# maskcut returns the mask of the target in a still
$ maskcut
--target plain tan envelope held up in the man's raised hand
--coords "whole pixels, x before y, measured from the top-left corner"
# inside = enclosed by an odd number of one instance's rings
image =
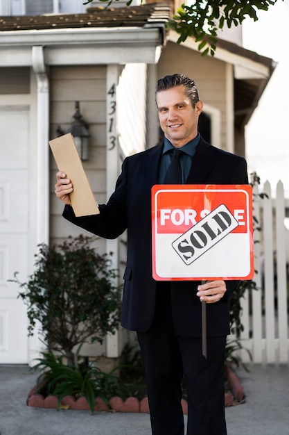
[[[98,205],[71,133],[49,140],[49,145],[58,170],[65,172],[73,183],[73,192],[69,197],[75,215],[78,217],[99,214]]]

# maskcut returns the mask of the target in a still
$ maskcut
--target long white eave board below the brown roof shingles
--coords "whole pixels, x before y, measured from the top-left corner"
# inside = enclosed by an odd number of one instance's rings
[[[0,66],[31,65],[30,51],[35,45],[45,47],[47,65],[90,64],[96,58],[103,64],[157,63],[164,26],[3,31]]]

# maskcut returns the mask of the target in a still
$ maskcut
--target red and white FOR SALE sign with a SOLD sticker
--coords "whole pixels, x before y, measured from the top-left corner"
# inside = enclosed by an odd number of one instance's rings
[[[154,279],[252,279],[252,188],[152,187]]]

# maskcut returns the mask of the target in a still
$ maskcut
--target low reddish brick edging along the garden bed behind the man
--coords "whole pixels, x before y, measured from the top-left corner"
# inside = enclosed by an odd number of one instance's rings
[[[230,368],[225,368],[225,375],[231,388],[231,393],[225,393],[225,406],[229,407],[234,404],[235,401],[241,402],[244,399],[243,386],[236,373]],[[44,397],[42,394],[35,394],[36,386],[34,386],[28,393],[26,404],[28,407],[35,408],[47,408],[56,409],[58,405],[58,397],[56,395],[50,395]],[[143,397],[142,400],[138,400],[137,397],[128,397],[125,401],[121,397],[112,397],[110,399],[110,407],[100,397],[96,397],[96,406],[94,411],[114,411],[114,412],[144,412],[150,413],[148,407],[148,397]],[[182,408],[184,414],[188,413],[188,404],[186,400],[182,400]],[[85,397],[79,397],[75,399],[73,396],[65,396],[62,400],[61,409],[77,409],[78,411],[90,411],[89,404]]]

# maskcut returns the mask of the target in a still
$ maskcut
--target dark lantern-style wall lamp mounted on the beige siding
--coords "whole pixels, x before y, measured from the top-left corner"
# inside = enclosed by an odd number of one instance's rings
[[[89,156],[88,144],[89,144],[89,136],[90,136],[88,131],[88,124],[87,122],[85,122],[85,120],[83,120],[82,115],[80,114],[79,101],[76,101],[75,109],[76,111],[73,115],[74,121],[69,127],[69,129],[67,129],[66,133],[72,134],[81,160],[87,161]],[[65,132],[61,129],[60,126],[58,126],[58,129],[56,131],[61,136],[65,134]]]

